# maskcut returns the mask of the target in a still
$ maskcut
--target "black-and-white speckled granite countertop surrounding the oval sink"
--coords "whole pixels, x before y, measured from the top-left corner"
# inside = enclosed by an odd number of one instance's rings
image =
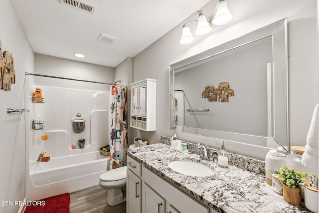
[[[141,162],[166,181],[205,206],[220,213],[308,213],[304,206],[293,206],[272,191],[265,176],[229,166],[214,167],[198,155],[180,153],[158,143],[126,149],[127,155]],[[173,171],[167,165],[174,160],[191,160],[215,169],[208,177],[193,177]]]

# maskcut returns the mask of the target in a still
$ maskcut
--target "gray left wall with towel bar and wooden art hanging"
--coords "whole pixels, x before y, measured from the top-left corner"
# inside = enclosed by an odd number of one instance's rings
[[[33,71],[33,51],[9,0],[0,1],[2,49],[13,54],[15,84],[0,90],[0,201],[23,201],[25,195],[24,114],[7,114],[6,108],[24,108],[24,73]],[[14,204],[14,203],[13,203]],[[19,206],[0,206],[14,213]]]

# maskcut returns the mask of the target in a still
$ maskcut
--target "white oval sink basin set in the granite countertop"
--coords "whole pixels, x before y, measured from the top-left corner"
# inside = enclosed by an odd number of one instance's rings
[[[206,177],[215,174],[211,168],[193,161],[173,161],[168,164],[168,167],[189,176]]]

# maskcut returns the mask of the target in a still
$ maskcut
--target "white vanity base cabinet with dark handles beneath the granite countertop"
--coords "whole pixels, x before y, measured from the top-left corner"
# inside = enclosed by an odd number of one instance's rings
[[[127,213],[217,213],[127,155]]]

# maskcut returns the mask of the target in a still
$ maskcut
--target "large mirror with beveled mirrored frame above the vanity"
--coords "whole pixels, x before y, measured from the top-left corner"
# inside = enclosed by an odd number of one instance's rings
[[[169,70],[171,130],[289,151],[287,18]]]

